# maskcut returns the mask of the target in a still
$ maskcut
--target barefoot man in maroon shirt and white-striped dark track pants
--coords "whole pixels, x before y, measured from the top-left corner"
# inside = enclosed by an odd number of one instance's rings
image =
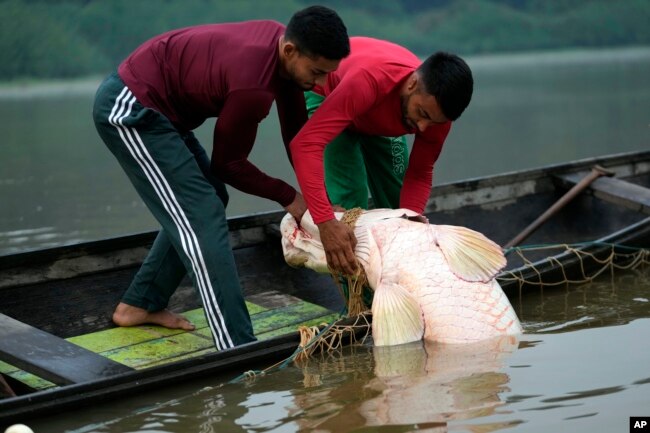
[[[173,30],[137,48],[99,87],[93,118],[162,229],[117,306],[121,326],[194,326],[166,309],[189,274],[218,349],[255,340],[228,241],[224,183],[300,218],[302,195],[251,162],[275,101],[287,147],[307,120],[304,90],[350,52],[336,12],[313,6],[275,21]],[[217,117],[212,158],[192,130]]]

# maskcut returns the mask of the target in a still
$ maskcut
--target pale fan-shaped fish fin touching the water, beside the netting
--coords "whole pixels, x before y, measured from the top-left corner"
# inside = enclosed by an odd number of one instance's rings
[[[424,335],[422,309],[398,284],[380,283],[372,301],[372,339],[375,346],[418,341]]]

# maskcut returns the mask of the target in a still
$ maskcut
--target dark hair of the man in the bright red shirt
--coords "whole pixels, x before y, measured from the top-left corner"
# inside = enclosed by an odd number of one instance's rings
[[[467,63],[455,54],[437,52],[418,68],[424,90],[436,97],[442,113],[456,120],[472,99],[474,79]]]

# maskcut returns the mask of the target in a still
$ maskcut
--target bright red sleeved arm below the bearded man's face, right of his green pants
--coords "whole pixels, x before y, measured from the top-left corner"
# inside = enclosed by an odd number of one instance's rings
[[[400,207],[423,213],[431,194],[433,166],[449,134],[451,122],[429,127],[415,136],[400,193]]]

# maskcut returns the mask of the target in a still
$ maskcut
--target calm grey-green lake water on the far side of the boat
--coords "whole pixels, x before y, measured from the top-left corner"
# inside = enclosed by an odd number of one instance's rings
[[[650,147],[650,47],[468,58],[434,183]],[[95,131],[100,78],[0,86],[0,255],[157,228]],[[214,121],[198,136],[211,149]],[[251,159],[296,184],[274,111]],[[229,216],[279,209],[231,190]]]

